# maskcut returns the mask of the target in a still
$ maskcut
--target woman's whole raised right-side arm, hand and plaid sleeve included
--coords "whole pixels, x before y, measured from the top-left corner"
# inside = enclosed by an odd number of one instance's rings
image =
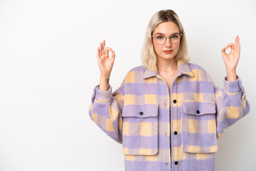
[[[230,53],[225,50],[231,48]],[[236,66],[240,58],[240,38],[235,37],[235,45],[228,44],[221,49],[225,63],[227,76],[224,78],[224,88],[215,87],[215,99],[217,105],[217,138],[223,134],[225,128],[236,123],[250,111],[250,105],[246,100],[245,89],[239,76],[236,75]]]

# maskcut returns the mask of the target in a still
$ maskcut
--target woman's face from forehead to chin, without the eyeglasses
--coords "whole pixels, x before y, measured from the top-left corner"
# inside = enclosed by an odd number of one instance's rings
[[[176,24],[174,24],[174,22],[172,21],[163,22],[155,28],[153,32],[153,36],[159,35],[159,33],[163,34],[167,38],[164,44],[156,43],[155,38],[153,38],[153,45],[154,45],[154,50],[156,51],[157,59],[159,58],[162,58],[165,60],[174,59],[174,57],[178,53],[180,42],[171,43],[171,40],[169,37],[174,33],[179,33],[178,26],[176,26]]]

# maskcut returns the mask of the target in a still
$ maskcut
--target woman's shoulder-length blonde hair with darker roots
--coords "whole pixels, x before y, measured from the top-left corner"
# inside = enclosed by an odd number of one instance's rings
[[[182,33],[180,47],[178,49],[178,53],[174,57],[175,61],[183,60],[185,62],[189,61],[188,58],[188,48],[186,43],[186,33],[183,30],[183,26],[181,25],[181,21],[178,19],[177,14],[171,9],[161,10],[154,14],[150,21],[149,25],[146,28],[146,35],[144,38],[144,43],[142,46],[142,65],[144,68],[152,70],[154,66],[156,66],[156,53],[154,51],[154,45],[152,42],[152,34],[154,29],[161,23],[166,21],[172,21],[174,24],[178,26],[179,32]]]

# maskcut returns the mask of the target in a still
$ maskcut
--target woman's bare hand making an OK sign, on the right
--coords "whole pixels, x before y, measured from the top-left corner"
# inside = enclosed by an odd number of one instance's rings
[[[227,71],[235,71],[236,66],[238,65],[238,60],[240,57],[240,38],[239,36],[235,37],[235,46],[234,43],[229,43],[223,49],[221,49],[221,54],[223,56],[223,61]],[[225,50],[231,48],[230,53],[225,53]]]

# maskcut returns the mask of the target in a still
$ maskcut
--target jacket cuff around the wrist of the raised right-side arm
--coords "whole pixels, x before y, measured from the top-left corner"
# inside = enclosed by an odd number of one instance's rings
[[[237,75],[237,79],[235,81],[228,81],[227,76],[223,79],[224,90],[227,93],[238,93],[239,91],[244,91],[242,87],[241,78]]]

